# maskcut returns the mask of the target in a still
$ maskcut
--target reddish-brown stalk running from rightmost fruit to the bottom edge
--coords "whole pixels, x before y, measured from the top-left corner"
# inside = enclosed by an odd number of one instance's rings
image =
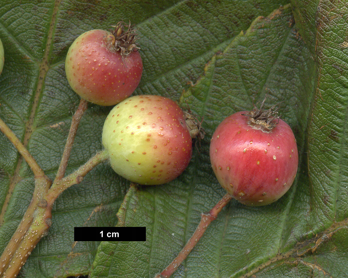
[[[193,233],[192,237],[189,239],[187,244],[182,248],[176,258],[159,274],[155,276],[155,278],[168,278],[177,267],[187,258],[188,254],[190,254],[193,247],[196,246],[199,239],[203,236],[205,230],[209,226],[209,224],[216,219],[217,215],[220,213],[222,208],[228,204],[228,202],[232,199],[230,194],[226,194],[222,197],[222,199],[209,211],[208,214],[201,214],[200,222],[197,226],[196,231]]]

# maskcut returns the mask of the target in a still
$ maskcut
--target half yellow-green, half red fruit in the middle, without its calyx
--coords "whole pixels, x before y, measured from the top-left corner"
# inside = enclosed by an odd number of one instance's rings
[[[158,185],[179,176],[192,155],[181,108],[162,96],[132,96],[115,106],[102,134],[112,169],[139,184]]]

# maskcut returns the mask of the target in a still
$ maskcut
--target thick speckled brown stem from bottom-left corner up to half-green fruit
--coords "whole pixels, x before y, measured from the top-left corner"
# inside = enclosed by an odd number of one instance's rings
[[[80,183],[90,170],[108,159],[108,157],[109,155],[105,150],[98,152],[78,170],[60,182],[53,184],[50,188],[50,180],[49,182],[45,178],[35,180],[35,182],[41,180],[41,183],[45,183],[45,185],[35,183],[32,202],[0,257],[1,278],[15,277],[13,276],[14,273],[19,272],[29,254],[35,248],[35,245],[48,231],[52,204],[58,195],[71,185]],[[44,188],[45,190],[41,191],[39,188]]]

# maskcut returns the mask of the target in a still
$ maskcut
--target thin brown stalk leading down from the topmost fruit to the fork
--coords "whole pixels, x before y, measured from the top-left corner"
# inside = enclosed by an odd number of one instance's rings
[[[72,116],[68,138],[66,139],[62,160],[59,165],[54,184],[61,180],[65,175],[65,170],[68,165],[72,144],[74,142],[76,132],[81,121],[81,117],[87,109],[87,105],[87,100],[81,98],[79,107],[77,108],[75,114]]]

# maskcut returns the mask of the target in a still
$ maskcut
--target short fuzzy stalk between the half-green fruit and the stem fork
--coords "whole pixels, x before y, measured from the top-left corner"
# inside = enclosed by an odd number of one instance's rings
[[[79,169],[71,173],[69,176],[65,177],[54,183],[46,194],[45,200],[48,203],[48,206],[52,206],[53,202],[57,199],[57,197],[68,187],[79,184],[82,182],[83,178],[87,175],[87,173],[96,167],[101,162],[107,160],[109,158],[108,152],[103,150],[101,152],[96,153],[95,156],[90,158],[84,165],[82,165]]]

